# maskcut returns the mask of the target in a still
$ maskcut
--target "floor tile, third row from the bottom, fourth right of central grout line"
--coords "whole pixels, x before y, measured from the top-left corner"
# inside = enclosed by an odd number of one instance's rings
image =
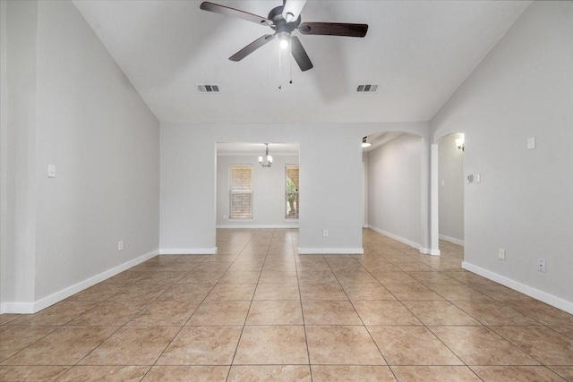
[[[486,326],[539,325],[534,319],[498,301],[455,301],[454,304]]]

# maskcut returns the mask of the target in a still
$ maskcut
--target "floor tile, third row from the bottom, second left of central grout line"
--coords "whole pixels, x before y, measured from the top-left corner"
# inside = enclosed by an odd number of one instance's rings
[[[203,301],[186,325],[195,327],[243,326],[250,305],[250,301]]]

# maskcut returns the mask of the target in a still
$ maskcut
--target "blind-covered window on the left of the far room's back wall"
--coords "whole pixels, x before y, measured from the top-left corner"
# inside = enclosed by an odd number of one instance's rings
[[[229,218],[252,219],[252,166],[229,167]]]

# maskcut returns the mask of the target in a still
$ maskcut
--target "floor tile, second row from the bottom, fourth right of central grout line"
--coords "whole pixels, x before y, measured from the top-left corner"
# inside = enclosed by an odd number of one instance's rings
[[[545,365],[573,366],[573,339],[549,327],[492,327],[492,330]]]

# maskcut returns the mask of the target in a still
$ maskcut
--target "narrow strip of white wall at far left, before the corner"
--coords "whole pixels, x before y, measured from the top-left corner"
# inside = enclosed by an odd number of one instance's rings
[[[34,299],[38,4],[3,2],[2,10],[4,237],[0,311],[4,301],[30,302]]]

